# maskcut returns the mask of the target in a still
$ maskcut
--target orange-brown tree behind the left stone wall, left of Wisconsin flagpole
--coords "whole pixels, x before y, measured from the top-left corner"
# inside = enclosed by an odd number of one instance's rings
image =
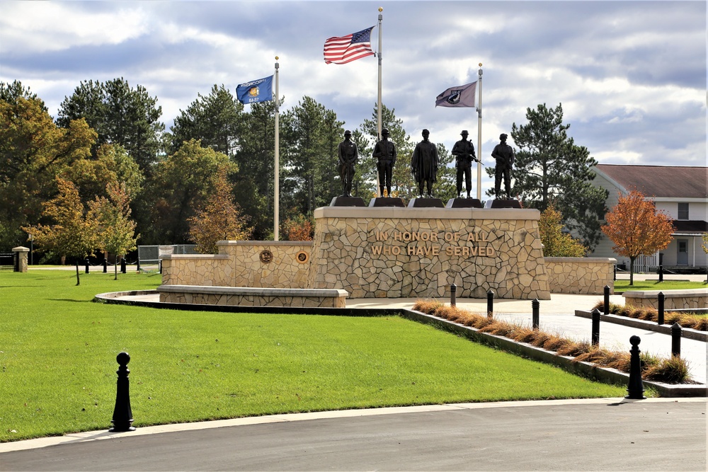
[[[205,206],[189,218],[189,234],[198,252],[216,254],[217,241],[243,241],[251,236],[253,229],[246,226],[246,219],[233,201],[227,169],[220,168]]]

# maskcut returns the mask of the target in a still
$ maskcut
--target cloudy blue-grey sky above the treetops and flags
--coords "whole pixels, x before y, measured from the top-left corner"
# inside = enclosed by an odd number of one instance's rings
[[[0,81],[56,116],[80,81],[124,77],[158,98],[169,129],[213,84],[235,95],[273,74],[277,55],[284,108],[310,96],[355,129],[377,100],[377,59],[325,64],[323,45],[375,25],[379,6],[383,103],[413,139],[428,128],[451,149],[469,129],[476,146],[475,110],[435,96],[481,62],[487,162],[527,108],[562,103],[600,163],[707,165],[705,1],[0,0]]]

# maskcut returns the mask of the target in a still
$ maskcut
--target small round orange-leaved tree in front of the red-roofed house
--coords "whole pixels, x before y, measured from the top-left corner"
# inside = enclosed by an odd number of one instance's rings
[[[629,284],[634,284],[634,260],[666,249],[674,231],[671,217],[656,210],[639,190],[619,194],[617,205],[605,215],[603,233],[615,244],[612,251],[629,258]]]

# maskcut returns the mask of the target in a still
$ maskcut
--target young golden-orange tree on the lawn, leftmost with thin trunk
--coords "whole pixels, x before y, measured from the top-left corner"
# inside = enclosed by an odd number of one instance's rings
[[[43,215],[54,224],[23,226],[33,234],[35,245],[66,255],[76,261],[76,285],[79,279],[79,260],[93,255],[99,245],[98,221],[86,214],[79,192],[69,180],[57,178],[59,195],[44,203]]]

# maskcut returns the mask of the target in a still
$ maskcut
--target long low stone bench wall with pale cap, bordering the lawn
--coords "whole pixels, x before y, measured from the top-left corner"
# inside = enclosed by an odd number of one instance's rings
[[[160,285],[160,301],[165,303],[224,306],[302,306],[345,308],[346,290],[270,289],[251,287],[200,287]]]

